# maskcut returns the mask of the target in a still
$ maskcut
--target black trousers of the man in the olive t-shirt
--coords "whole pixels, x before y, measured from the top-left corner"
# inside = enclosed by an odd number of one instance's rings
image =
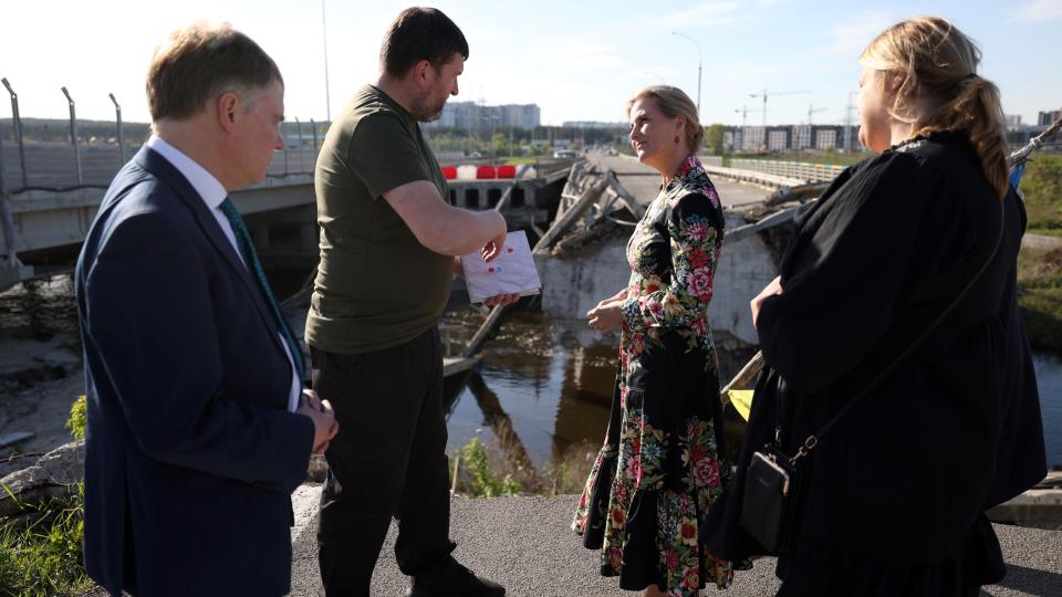
[[[372,353],[310,354],[313,387],[340,423],[325,452],[317,528],[325,594],[369,595],[392,517],[398,568],[418,582],[445,574],[456,545],[438,328]]]

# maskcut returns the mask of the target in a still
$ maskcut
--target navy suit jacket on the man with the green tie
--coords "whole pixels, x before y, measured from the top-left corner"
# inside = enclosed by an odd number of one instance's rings
[[[75,273],[85,347],[85,565],[112,594],[282,595],[313,423],[247,268],[145,147]]]

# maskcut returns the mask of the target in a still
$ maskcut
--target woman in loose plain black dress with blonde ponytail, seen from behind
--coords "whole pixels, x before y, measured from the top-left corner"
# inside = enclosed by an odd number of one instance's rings
[[[985,510],[1045,473],[1016,304],[1025,213],[979,59],[938,18],[904,21],[870,44],[860,140],[881,155],[798,216],[781,276],[752,301],[768,368],[742,468],[711,512],[716,553],[761,551],[736,521],[743,467],[775,423],[793,454],[887,370],[803,460],[802,523],[779,559],[781,596],[977,595],[1004,574]]]

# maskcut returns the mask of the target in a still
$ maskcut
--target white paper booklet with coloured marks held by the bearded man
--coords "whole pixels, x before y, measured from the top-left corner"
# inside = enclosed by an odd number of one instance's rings
[[[479,251],[461,256],[465,268],[465,285],[473,303],[499,294],[538,294],[542,289],[539,270],[531,256],[531,247],[523,230],[510,232],[501,253],[490,263],[483,262]]]

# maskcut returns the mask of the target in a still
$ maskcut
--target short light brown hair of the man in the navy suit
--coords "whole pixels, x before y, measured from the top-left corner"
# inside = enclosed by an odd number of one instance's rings
[[[155,49],[147,69],[152,119],[195,116],[228,91],[252,94],[273,81],[280,69],[253,40],[229,23],[205,21],[174,31]]]

